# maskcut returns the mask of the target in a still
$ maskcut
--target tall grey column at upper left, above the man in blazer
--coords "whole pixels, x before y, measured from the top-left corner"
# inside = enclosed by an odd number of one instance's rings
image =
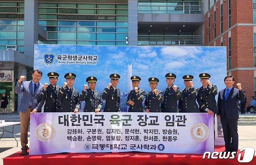
[[[38,0],[25,0],[24,54],[34,57],[34,44],[38,41]]]

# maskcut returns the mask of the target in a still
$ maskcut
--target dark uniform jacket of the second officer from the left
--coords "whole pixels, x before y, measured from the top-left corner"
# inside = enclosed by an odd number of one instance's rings
[[[57,102],[60,105],[59,112],[74,112],[75,108],[79,109],[81,105],[81,101],[79,101],[79,91],[73,87],[71,93],[68,86],[66,86],[65,89],[61,87]]]

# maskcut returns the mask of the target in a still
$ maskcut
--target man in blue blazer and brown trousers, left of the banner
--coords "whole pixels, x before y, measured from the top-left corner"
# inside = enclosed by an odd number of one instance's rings
[[[21,155],[26,155],[28,149],[28,127],[30,114],[41,112],[44,100],[40,100],[39,95],[42,92],[44,84],[39,81],[42,77],[40,70],[34,70],[31,81],[23,81],[26,77],[21,76],[15,87],[15,93],[23,93],[18,112],[21,120]]]

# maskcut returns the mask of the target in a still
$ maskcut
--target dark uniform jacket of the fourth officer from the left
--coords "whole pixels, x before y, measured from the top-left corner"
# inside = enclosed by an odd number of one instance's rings
[[[114,90],[113,86],[109,89],[105,88],[102,99],[106,100],[104,112],[118,112],[120,111],[120,89]]]

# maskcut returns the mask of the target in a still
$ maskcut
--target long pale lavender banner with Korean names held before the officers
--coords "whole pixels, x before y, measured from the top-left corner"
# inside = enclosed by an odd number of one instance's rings
[[[30,155],[142,151],[214,151],[208,113],[34,113]]]

